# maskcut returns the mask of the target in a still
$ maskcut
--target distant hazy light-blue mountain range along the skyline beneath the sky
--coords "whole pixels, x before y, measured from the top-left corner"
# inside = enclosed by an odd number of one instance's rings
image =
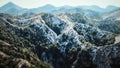
[[[7,4],[5,4],[4,6],[0,7],[0,12],[4,12],[4,13],[9,13],[9,14],[14,14],[14,15],[21,15],[23,13],[40,13],[40,12],[46,12],[46,13],[65,13],[65,12],[69,12],[69,11],[73,11],[73,12],[81,12],[81,10],[87,11],[87,10],[91,10],[94,12],[100,12],[100,13],[105,13],[105,12],[109,12],[115,9],[118,9],[119,7],[116,6],[108,6],[106,8],[100,8],[98,6],[76,6],[76,7],[72,7],[72,6],[61,6],[61,7],[55,7],[53,5],[47,4],[45,6],[42,7],[38,7],[38,8],[32,8],[32,9],[26,9],[26,8],[22,8],[17,6],[16,4],[9,2]],[[71,11],[71,12],[72,12]]]

